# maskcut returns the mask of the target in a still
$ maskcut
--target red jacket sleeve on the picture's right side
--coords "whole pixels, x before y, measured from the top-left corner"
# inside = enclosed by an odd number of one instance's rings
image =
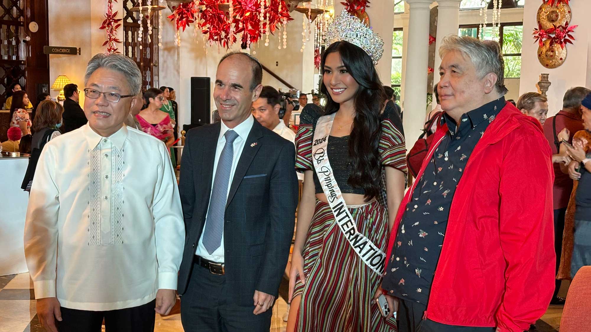
[[[527,171],[521,165],[528,165]],[[543,136],[524,135],[512,144],[499,187],[499,238],[506,261],[505,293],[495,314],[499,331],[528,330],[550,303],[556,261],[553,181]]]

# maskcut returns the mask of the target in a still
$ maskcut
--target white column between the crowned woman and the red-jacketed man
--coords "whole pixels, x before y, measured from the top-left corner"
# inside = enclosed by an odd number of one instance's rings
[[[410,6],[404,89],[404,134],[407,149],[423,129],[427,108],[429,6],[431,0],[407,0]]]

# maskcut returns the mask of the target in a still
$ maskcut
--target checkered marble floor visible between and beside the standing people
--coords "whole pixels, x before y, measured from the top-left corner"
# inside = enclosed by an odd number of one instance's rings
[[[35,314],[33,282],[28,273],[0,276],[0,332],[44,332]],[[282,317],[287,304],[281,298],[275,302],[269,332],[285,331]],[[537,321],[536,330],[558,331],[562,308],[549,308]],[[180,314],[161,317],[156,314],[154,332],[183,332]]]

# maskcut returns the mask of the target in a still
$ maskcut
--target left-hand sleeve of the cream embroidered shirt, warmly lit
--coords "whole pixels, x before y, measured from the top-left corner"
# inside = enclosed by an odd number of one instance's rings
[[[35,298],[56,297],[57,215],[60,210],[56,151],[47,145],[39,157],[25,219],[24,245]]]

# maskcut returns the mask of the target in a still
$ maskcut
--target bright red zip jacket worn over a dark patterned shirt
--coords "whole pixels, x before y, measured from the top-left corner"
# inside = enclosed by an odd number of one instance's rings
[[[434,134],[417,178],[447,133]],[[540,123],[507,102],[457,185],[424,318],[524,331],[554,292],[551,151]],[[388,255],[413,187],[400,204]]]

